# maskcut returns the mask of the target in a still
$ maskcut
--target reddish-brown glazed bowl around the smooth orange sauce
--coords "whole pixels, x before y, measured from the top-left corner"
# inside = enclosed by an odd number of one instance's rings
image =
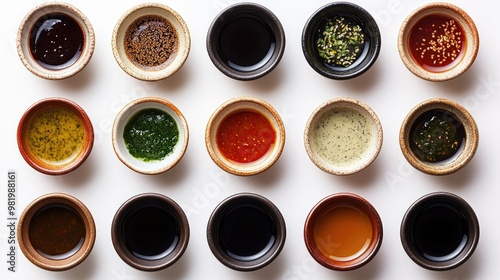
[[[342,258],[324,254],[317,242],[318,239],[315,237],[316,225],[320,218],[324,217],[327,211],[340,207],[356,209],[362,213],[364,217],[369,219],[372,233],[371,239],[367,239],[358,252]],[[351,228],[345,228],[344,231]],[[333,270],[353,270],[367,264],[377,254],[382,244],[382,237],[382,221],[377,210],[366,199],[352,193],[337,193],[325,197],[313,207],[304,225],[304,240],[307,250],[319,264]]]

